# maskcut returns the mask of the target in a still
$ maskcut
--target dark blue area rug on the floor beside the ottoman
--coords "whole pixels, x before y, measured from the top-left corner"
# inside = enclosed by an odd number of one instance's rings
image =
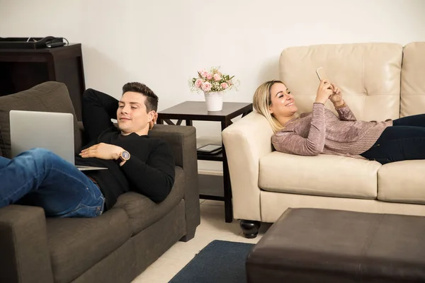
[[[253,246],[212,241],[169,283],[246,283],[245,260]]]

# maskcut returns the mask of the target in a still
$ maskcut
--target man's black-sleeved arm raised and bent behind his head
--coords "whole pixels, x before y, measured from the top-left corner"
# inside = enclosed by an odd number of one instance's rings
[[[97,139],[99,134],[113,126],[117,118],[118,100],[92,88],[86,89],[82,98],[82,116],[87,141]]]

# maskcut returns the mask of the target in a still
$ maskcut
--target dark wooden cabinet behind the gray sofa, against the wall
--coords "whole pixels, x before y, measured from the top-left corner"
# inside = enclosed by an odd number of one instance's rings
[[[77,120],[86,89],[81,44],[41,49],[0,49],[0,96],[25,91],[45,81],[67,85]]]

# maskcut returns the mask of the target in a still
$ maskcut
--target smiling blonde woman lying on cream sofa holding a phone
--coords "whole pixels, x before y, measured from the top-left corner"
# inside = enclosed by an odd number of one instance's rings
[[[338,116],[324,108],[334,103]],[[375,160],[381,164],[425,159],[425,115],[385,122],[358,121],[342,99],[341,90],[322,80],[312,112],[296,117],[297,106],[282,81],[267,81],[256,89],[254,108],[270,123],[277,151],[302,156],[336,154]]]

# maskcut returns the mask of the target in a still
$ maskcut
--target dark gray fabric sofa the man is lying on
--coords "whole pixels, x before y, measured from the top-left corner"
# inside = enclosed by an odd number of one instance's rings
[[[63,83],[41,83],[0,97],[0,148],[6,157],[11,154],[10,110],[75,117]],[[46,218],[40,207],[24,205],[0,208],[0,282],[131,282],[174,243],[193,238],[200,223],[196,129],[155,125],[149,135],[169,142],[176,158],[176,181],[164,202],[128,192],[94,219]],[[74,136],[79,149],[77,119]]]

